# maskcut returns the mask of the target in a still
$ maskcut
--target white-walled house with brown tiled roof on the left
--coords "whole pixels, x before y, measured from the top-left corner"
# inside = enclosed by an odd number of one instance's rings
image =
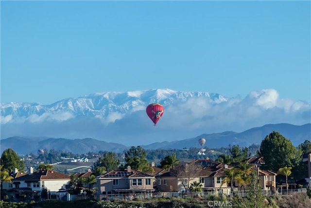
[[[43,188],[47,188],[51,194],[65,187],[70,181],[70,176],[53,170],[37,170],[34,172],[30,168],[28,174],[20,173],[18,177],[12,179],[12,188],[8,193],[19,194],[20,192],[30,192],[39,195]]]

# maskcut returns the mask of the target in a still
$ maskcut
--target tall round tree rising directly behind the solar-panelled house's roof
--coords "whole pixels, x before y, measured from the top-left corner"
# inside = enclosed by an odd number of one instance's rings
[[[137,148],[131,147],[131,149],[125,152],[125,166],[131,166],[132,169],[140,171],[146,170],[148,167],[148,160],[146,159],[146,155],[146,151],[140,146]]]

